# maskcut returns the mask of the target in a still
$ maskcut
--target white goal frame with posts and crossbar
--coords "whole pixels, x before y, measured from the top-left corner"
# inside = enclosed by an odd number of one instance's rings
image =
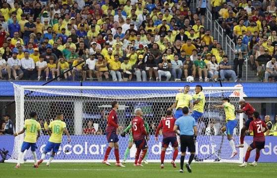
[[[184,83],[185,84],[185,83]],[[32,86],[32,85],[21,85],[20,86],[20,125],[24,125],[24,95],[25,90],[36,90],[36,89],[64,89],[64,90],[178,90],[183,89],[184,86],[180,87],[123,87],[123,86]],[[195,87],[190,87],[189,90],[194,90]],[[239,91],[239,99],[243,99],[243,87],[203,87],[203,90],[233,90]],[[17,108],[16,108],[17,109]],[[17,117],[16,117],[17,118]],[[239,134],[242,128],[243,113],[239,113]],[[19,132],[21,128],[16,128],[16,132]],[[20,143],[24,140],[24,134],[18,136],[20,137]],[[20,147],[18,148],[18,152]],[[23,159],[24,156],[22,156]],[[101,160],[82,160],[76,162],[99,162]],[[5,162],[12,162],[12,160],[6,160]],[[23,163],[23,160],[21,161]],[[28,162],[28,161],[27,161]],[[53,160],[53,162],[75,162],[75,160]],[[110,161],[112,162],[112,160]],[[152,162],[159,162],[159,160],[154,160]],[[239,161],[234,161],[236,163],[243,162],[243,148],[239,148]]]

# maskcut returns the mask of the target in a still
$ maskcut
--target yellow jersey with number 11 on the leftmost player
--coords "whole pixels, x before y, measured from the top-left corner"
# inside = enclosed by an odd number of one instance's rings
[[[37,131],[41,130],[41,124],[35,119],[26,119],[23,128],[26,129],[24,142],[37,142]]]

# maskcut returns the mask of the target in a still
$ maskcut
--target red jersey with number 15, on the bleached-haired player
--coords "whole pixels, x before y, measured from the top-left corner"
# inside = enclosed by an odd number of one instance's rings
[[[144,128],[144,121],[141,117],[135,117],[132,121],[132,135],[134,141],[139,141],[147,137],[147,133]]]

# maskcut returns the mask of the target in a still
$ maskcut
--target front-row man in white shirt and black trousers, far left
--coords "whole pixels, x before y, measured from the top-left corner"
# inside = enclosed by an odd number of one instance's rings
[[[24,58],[21,59],[21,68],[24,73],[24,79],[34,79],[35,71],[35,63],[32,58],[29,57],[29,52],[24,51]]]

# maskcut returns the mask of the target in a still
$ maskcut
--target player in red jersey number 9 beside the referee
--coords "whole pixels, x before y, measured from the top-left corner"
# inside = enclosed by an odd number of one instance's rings
[[[183,108],[182,108],[183,109]],[[177,119],[175,117],[172,117],[172,111],[167,110],[166,111],[166,118],[163,118],[156,130],[156,141],[158,142],[158,133],[161,128],[163,128],[163,148],[162,148],[162,153],[161,153],[161,169],[164,168],[164,158],[165,158],[165,151],[169,146],[169,143],[174,147],[174,152],[173,152],[173,158],[171,161],[171,164],[173,165],[174,168],[176,168],[175,164],[175,159],[178,156],[178,141],[177,141],[177,136],[176,133],[173,131],[175,121]]]

